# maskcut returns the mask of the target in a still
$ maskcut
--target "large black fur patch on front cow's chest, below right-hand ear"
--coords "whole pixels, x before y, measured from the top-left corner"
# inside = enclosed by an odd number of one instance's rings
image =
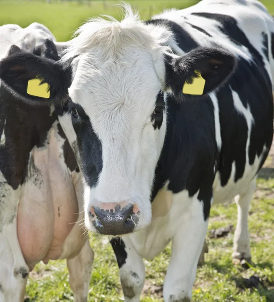
[[[178,103],[167,98],[167,130],[164,146],[155,171],[151,200],[169,180],[168,189],[184,189],[203,202],[204,219],[209,216],[214,181],[214,164],[218,161],[215,140],[214,108],[209,97]]]

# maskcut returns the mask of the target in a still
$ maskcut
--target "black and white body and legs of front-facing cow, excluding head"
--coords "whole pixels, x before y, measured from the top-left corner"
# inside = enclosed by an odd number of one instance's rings
[[[206,232],[206,226],[203,232],[198,230],[202,221],[198,216],[203,211],[208,218],[212,203],[225,203],[237,195],[233,258],[251,259],[248,209],[273,135],[274,23],[256,1],[204,0],[155,16],[147,24],[172,31],[171,47],[177,54],[218,44],[239,56],[230,81],[205,102],[178,105],[174,96],[168,97],[167,132],[152,191],[152,222],[146,231],[124,237],[123,242],[111,241],[126,301],[139,301],[145,280],[142,258],[154,258],[170,241],[164,299],[189,301],[202,248],[196,238]]]

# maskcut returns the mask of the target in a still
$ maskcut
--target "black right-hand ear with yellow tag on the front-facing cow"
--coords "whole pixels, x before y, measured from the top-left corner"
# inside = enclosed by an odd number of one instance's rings
[[[221,87],[236,68],[235,56],[219,48],[197,48],[166,60],[166,83],[177,99],[207,95]]]

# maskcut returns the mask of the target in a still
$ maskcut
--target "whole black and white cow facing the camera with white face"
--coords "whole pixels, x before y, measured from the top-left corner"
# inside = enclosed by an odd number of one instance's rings
[[[27,103],[47,101],[27,95],[35,77],[57,105],[68,91],[60,123],[77,134],[86,226],[127,234],[112,240],[125,301],[140,300],[143,258],[172,241],[164,299],[186,302],[213,202],[238,196],[233,258],[251,257],[248,207],[273,135],[274,22],[254,0],[203,0],[148,22],[125,11],[83,25],[60,62],[14,55],[0,77]]]

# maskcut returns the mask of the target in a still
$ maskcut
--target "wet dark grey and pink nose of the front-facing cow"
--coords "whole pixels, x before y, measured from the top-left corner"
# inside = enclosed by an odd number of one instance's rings
[[[91,207],[89,212],[96,230],[102,235],[113,236],[132,233],[139,214],[132,203],[125,202],[101,203]]]

